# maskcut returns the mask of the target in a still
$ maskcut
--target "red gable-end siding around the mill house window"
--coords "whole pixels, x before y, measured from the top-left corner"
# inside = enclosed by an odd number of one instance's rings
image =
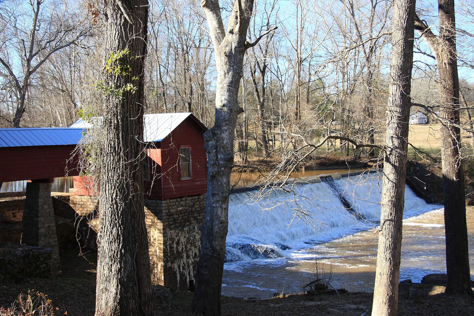
[[[203,194],[207,191],[203,131],[191,118],[161,141],[163,199]],[[191,179],[180,179],[179,148],[191,147]]]

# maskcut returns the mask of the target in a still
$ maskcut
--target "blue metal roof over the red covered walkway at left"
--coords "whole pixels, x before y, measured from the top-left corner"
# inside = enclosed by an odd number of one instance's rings
[[[75,145],[83,128],[0,128],[0,147]]]

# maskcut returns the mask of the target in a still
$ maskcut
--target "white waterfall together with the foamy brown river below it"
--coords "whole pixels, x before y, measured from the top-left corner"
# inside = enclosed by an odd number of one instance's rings
[[[370,228],[379,224],[381,178],[366,173],[322,180],[273,190],[257,201],[257,191],[230,196],[224,295],[301,292],[314,278],[315,262],[330,267],[335,287],[373,290],[377,234]],[[442,206],[407,187],[403,218],[401,278],[419,282],[443,273]]]

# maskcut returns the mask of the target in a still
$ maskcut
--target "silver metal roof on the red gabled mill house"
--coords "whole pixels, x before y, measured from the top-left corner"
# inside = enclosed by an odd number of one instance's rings
[[[161,142],[190,115],[191,113],[145,114],[143,140]],[[91,121],[92,123],[79,119],[71,127],[91,128],[95,122],[100,124],[101,117],[93,117]]]

